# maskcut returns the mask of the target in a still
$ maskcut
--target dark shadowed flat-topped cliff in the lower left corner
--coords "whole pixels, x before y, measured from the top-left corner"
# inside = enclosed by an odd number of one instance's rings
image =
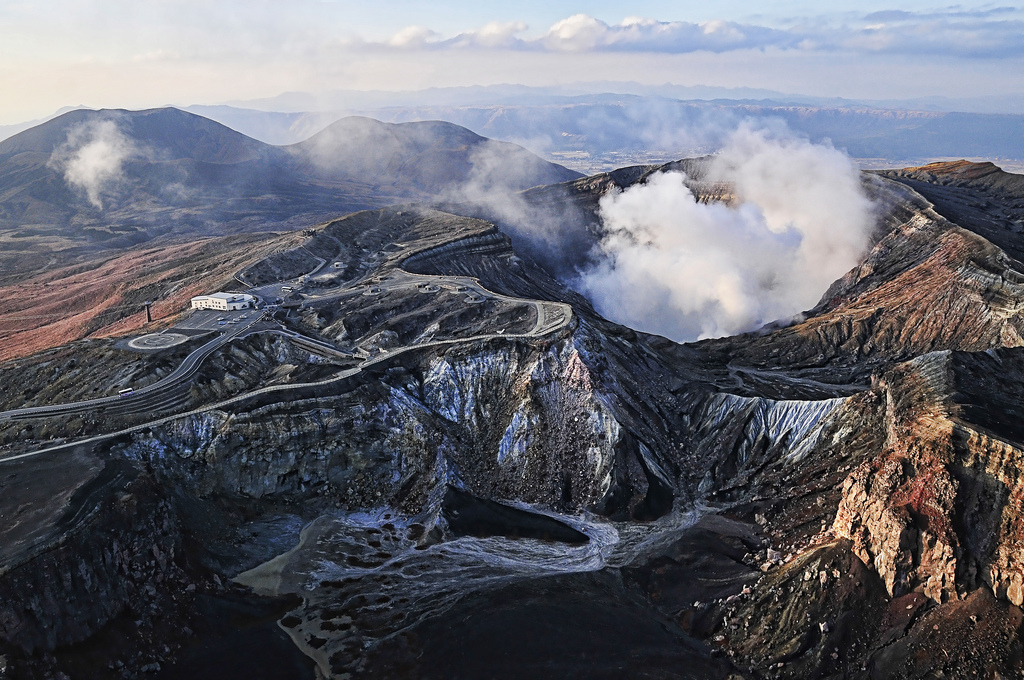
[[[186,610],[197,588],[182,568],[176,515],[152,477],[123,459],[82,451],[8,463],[4,472],[5,649],[32,652],[45,668],[58,646],[121,637],[122,665],[166,658],[166,623]],[[112,662],[84,655],[92,677]],[[33,668],[15,666],[8,675],[32,677]]]

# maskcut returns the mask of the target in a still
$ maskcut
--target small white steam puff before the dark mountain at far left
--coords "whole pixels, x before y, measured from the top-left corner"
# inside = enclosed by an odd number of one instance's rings
[[[49,165],[63,173],[69,185],[85,192],[89,203],[102,209],[103,197],[121,180],[121,167],[135,154],[132,142],[111,120],[73,127],[68,140],[54,150]]]

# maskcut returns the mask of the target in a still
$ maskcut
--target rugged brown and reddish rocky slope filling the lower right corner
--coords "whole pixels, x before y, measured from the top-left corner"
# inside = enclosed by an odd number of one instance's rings
[[[756,533],[733,549],[731,588],[678,592],[692,547],[635,578],[756,677],[1019,673],[1019,353],[898,364],[831,411],[802,460],[727,483]]]

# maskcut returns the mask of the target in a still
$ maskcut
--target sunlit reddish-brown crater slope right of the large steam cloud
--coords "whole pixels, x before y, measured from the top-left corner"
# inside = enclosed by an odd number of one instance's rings
[[[706,343],[737,365],[785,367],[824,383],[860,382],[879,366],[939,349],[1021,344],[1021,263],[888,183],[882,236],[802,323],[762,337]]]

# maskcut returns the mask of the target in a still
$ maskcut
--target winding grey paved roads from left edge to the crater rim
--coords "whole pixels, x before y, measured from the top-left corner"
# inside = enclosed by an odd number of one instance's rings
[[[317,265],[316,269],[319,269],[322,266],[323,266],[323,261],[321,262],[321,264]],[[276,286],[280,285],[281,284],[276,284]],[[507,295],[501,295],[499,293],[495,293],[493,291],[487,290],[486,288],[483,287],[482,284],[480,284],[478,280],[469,277],[439,277],[431,274],[419,274],[419,273],[412,273],[409,271],[404,271],[403,269],[391,270],[385,277],[371,278],[366,282],[359,282],[353,286],[346,287],[336,293],[325,294],[325,295],[310,295],[309,297],[310,299],[313,300],[326,300],[332,297],[351,295],[353,293],[353,290],[358,290],[360,287],[364,289],[379,288],[381,292],[386,290],[398,290],[410,287],[417,287],[420,290],[426,292],[432,292],[433,287],[437,287],[438,290],[440,288],[446,288],[449,290],[466,292],[467,294],[476,294],[483,297],[490,297],[495,299],[505,300],[511,303],[531,304],[537,310],[537,320],[534,324],[534,328],[524,333],[506,334],[504,332],[498,332],[498,333],[486,333],[481,335],[475,335],[466,338],[432,340],[432,341],[417,343],[414,345],[407,345],[386,351],[381,351],[378,354],[369,357],[367,356],[353,357],[348,352],[339,350],[338,348],[332,345],[324,343],[319,340],[301,336],[300,334],[295,333],[294,331],[289,331],[283,328],[275,329],[271,327],[271,328],[261,329],[258,332],[275,332],[275,333],[281,333],[283,335],[287,335],[291,337],[293,341],[298,341],[302,344],[305,344],[307,346],[307,349],[310,349],[311,351],[318,350],[317,353],[324,353],[327,355],[333,355],[342,358],[355,358],[356,360],[360,360],[360,363],[357,366],[354,366],[350,369],[345,369],[343,371],[340,371],[333,377],[327,378],[325,380],[318,380],[315,382],[308,382],[308,383],[297,383],[291,385],[272,385],[269,387],[262,387],[228,399],[224,399],[222,401],[218,401],[216,403],[205,405],[203,407],[200,407],[199,409],[194,409],[186,413],[174,414],[171,416],[167,416],[165,418],[160,418],[158,420],[150,421],[124,430],[120,430],[118,432],[111,432],[108,434],[101,434],[94,437],[89,437],[87,439],[81,439],[69,443],[62,443],[56,447],[50,447],[47,449],[31,452],[28,454],[20,454],[17,456],[9,456],[7,458],[2,458],[0,459],[0,463],[3,463],[4,461],[19,460],[30,456],[38,456],[40,454],[45,454],[49,452],[71,449],[82,444],[88,444],[121,436],[124,434],[129,434],[131,432],[140,431],[146,428],[157,427],[165,423],[171,422],[173,420],[177,420],[179,418],[186,418],[188,416],[198,415],[209,411],[224,409],[231,405],[239,403],[247,399],[251,399],[254,396],[258,396],[261,394],[299,390],[321,385],[330,385],[332,383],[340,382],[342,380],[350,378],[358,374],[359,372],[365,371],[368,368],[371,368],[385,360],[390,360],[391,358],[404,354],[409,351],[427,349],[432,347],[443,347],[463,342],[474,342],[480,340],[490,340],[490,339],[515,340],[515,339],[532,339],[542,337],[565,328],[572,318],[572,307],[563,302],[530,300],[525,298],[515,298],[515,297],[509,297]],[[250,293],[257,294],[256,290],[257,289],[254,289],[250,291]],[[102,397],[98,399],[90,399],[88,401],[76,401],[73,403],[53,405],[47,407],[36,407],[32,409],[18,409],[15,411],[0,412],[0,420],[54,416],[68,413],[76,413],[80,411],[91,411],[99,407],[108,407],[108,409],[110,409],[115,405],[119,407],[121,405],[124,405],[127,407],[131,402],[145,405],[148,408],[150,407],[148,402],[141,400],[136,401],[136,399],[139,399],[139,397],[150,397],[154,399],[152,403],[154,406],[157,406],[161,403],[161,399],[167,401],[167,399],[169,398],[166,394],[168,390],[174,386],[180,386],[184,384],[184,381],[186,381],[196,373],[203,359],[205,359],[208,355],[210,355],[212,352],[217,350],[222,345],[229,342],[231,339],[243,336],[243,334],[250,335],[251,334],[249,333],[250,329],[252,329],[259,321],[261,321],[263,313],[259,311],[257,311],[254,314],[250,314],[250,317],[246,320],[244,324],[239,324],[237,327],[227,331],[224,335],[214,338],[213,340],[206,343],[199,349],[196,349],[195,351],[189,353],[188,356],[185,357],[184,362],[182,362],[181,366],[179,366],[169,376],[165,377],[164,379],[156,383],[147,385],[146,387],[142,387],[138,390],[135,390],[135,392],[129,397],[117,397],[117,396]],[[257,331],[254,330],[253,332]],[[155,410],[155,409],[148,409],[148,410]]]

